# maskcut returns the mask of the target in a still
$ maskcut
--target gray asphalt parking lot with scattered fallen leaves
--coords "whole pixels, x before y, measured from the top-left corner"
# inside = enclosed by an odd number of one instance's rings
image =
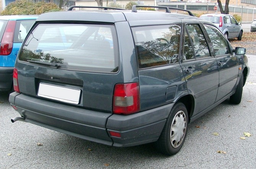
[[[29,123],[11,123],[18,113],[8,102],[8,92],[0,92],[0,169],[255,168],[256,56],[248,55],[248,60],[250,75],[241,103],[226,100],[191,123],[183,148],[174,156],[159,154],[151,144],[109,147]]]

